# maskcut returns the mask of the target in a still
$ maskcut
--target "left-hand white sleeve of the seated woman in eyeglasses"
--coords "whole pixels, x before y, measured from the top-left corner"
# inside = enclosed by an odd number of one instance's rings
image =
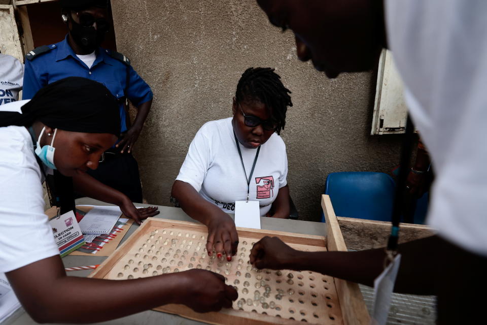
[[[197,192],[201,190],[201,185],[211,164],[210,139],[207,137],[205,129],[206,127],[203,125],[191,141],[183,166],[176,178],[176,180],[190,184]]]

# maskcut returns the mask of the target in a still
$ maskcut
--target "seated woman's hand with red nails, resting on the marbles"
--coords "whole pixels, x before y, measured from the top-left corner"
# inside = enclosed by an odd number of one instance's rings
[[[235,222],[225,213],[212,217],[206,225],[208,228],[208,240],[206,250],[208,255],[212,255],[213,247],[215,254],[222,259],[223,254],[227,255],[227,261],[232,260],[232,256],[237,253],[238,234],[235,229]]]

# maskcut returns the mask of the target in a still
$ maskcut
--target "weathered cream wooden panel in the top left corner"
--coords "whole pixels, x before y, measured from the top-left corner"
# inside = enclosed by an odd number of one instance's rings
[[[19,31],[15,21],[14,6],[0,5],[0,51],[23,61]]]

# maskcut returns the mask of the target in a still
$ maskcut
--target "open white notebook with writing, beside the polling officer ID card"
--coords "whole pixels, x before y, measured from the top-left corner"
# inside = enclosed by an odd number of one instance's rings
[[[120,209],[95,207],[81,219],[81,233],[88,235],[108,235],[121,214]]]

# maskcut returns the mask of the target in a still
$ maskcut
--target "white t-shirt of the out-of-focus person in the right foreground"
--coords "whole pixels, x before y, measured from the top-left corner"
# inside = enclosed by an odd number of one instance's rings
[[[389,45],[435,168],[428,223],[487,256],[487,1],[389,0]]]

